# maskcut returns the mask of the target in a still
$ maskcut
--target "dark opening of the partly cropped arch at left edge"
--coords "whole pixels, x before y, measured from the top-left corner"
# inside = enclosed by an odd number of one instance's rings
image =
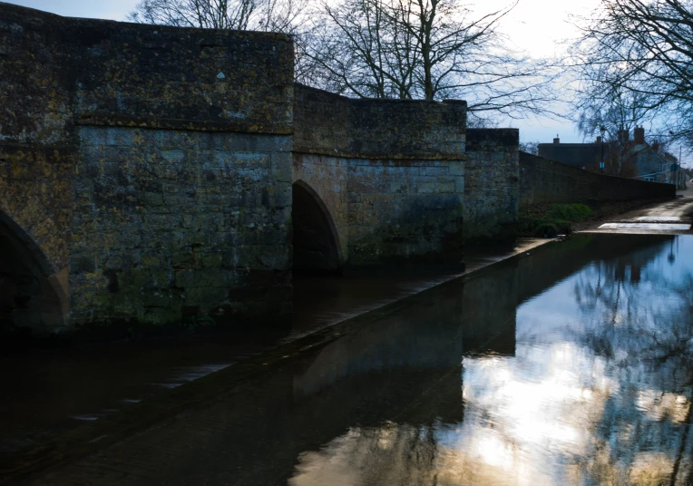
[[[63,273],[0,211],[0,334],[45,335],[64,326],[68,296]]]

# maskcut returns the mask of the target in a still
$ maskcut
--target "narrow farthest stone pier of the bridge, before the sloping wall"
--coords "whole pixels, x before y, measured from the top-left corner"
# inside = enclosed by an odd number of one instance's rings
[[[468,129],[464,239],[514,238],[518,208],[517,129]]]

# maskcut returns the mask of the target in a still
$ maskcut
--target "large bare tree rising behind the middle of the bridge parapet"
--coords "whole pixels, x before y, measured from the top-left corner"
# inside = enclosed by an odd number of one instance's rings
[[[307,57],[317,84],[361,97],[464,98],[477,117],[520,116],[554,100],[547,63],[512,53],[498,24],[458,0],[343,0],[324,4]]]

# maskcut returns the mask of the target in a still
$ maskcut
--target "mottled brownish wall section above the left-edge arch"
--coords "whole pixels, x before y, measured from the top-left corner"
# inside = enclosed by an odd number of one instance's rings
[[[61,17],[0,5],[0,212],[54,272],[68,262],[73,199],[66,36]]]

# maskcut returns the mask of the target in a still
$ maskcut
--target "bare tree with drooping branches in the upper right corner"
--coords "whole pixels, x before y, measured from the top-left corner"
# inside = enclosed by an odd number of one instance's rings
[[[693,2],[602,0],[581,19],[573,54],[594,92],[619,92],[664,121],[675,138],[693,136]],[[601,87],[600,87],[601,86]]]

